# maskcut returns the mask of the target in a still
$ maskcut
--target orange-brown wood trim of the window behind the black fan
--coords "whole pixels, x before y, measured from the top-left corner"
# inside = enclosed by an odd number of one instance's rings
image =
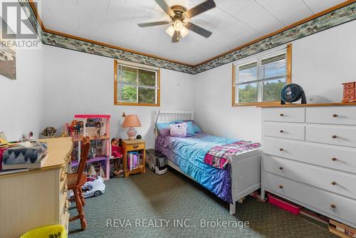
[[[286,83],[292,83],[292,44],[288,43],[287,45],[287,76],[286,76]],[[268,106],[268,105],[280,105],[280,101],[273,101],[273,102],[256,102],[256,103],[236,103],[236,70],[234,63],[231,64],[232,66],[232,100],[231,106],[233,107],[242,107],[242,106]]]

